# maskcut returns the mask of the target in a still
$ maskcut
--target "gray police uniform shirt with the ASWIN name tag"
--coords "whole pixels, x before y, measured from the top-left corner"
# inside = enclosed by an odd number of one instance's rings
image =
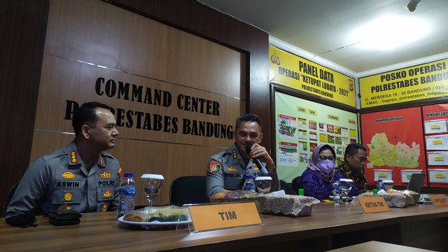
[[[29,211],[47,215],[51,209],[80,213],[116,210],[120,176],[118,160],[105,152],[87,171],[72,141],[29,165],[8,204],[6,218]]]

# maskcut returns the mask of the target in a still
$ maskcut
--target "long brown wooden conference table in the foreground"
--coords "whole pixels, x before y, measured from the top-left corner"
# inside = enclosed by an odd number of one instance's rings
[[[314,205],[311,216],[264,214],[264,225],[190,234],[188,230],[135,230],[118,225],[115,212],[83,214],[79,225],[54,226],[38,216],[37,228],[0,219],[0,251],[327,251],[382,241],[448,251],[448,207],[391,208],[377,214]]]

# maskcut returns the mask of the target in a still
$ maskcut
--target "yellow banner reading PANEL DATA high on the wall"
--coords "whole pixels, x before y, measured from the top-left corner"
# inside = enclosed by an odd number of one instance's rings
[[[270,45],[269,81],[356,107],[353,78]]]

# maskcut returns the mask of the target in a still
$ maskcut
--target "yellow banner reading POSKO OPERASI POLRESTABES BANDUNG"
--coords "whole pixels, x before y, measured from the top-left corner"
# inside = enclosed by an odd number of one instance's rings
[[[361,108],[448,94],[448,59],[359,79]]]

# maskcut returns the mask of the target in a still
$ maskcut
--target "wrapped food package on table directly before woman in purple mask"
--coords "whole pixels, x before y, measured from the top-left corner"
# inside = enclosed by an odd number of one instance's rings
[[[309,216],[313,204],[321,202],[314,197],[300,195],[265,195],[266,202],[262,207],[263,214],[284,216]]]

